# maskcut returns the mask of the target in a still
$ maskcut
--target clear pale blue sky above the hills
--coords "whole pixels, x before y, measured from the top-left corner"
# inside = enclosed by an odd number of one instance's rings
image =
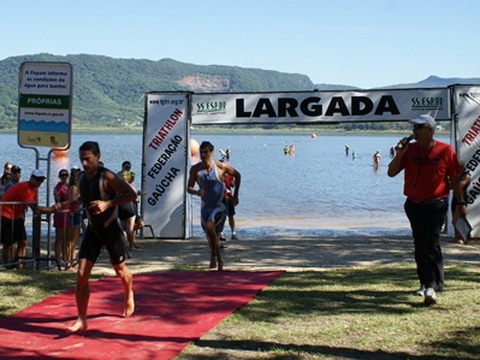
[[[1,11],[0,60],[171,58],[362,89],[480,77],[477,0],[21,0]]]

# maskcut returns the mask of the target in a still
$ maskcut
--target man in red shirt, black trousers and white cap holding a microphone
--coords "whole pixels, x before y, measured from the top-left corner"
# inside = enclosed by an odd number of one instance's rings
[[[435,291],[443,290],[444,269],[440,232],[447,214],[449,183],[458,199],[457,211],[467,213],[459,181],[462,172],[455,152],[448,144],[433,139],[436,122],[430,115],[410,120],[416,142],[399,142],[399,149],[388,165],[388,176],[405,170],[404,208],[412,228],[415,262],[420,280],[417,294],[426,305],[437,302]]]

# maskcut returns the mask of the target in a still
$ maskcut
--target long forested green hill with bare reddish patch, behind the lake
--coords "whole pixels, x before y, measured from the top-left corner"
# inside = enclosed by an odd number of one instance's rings
[[[301,74],[240,67],[113,59],[98,55],[38,54],[0,61],[0,129],[17,125],[18,71],[24,61],[60,61],[73,67],[73,127],[141,127],[147,91],[248,92],[313,90]]]

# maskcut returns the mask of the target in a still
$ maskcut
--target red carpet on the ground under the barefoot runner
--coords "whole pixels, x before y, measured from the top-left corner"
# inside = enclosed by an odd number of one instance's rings
[[[123,318],[118,278],[92,282],[88,330],[69,334],[73,289],[0,319],[0,359],[171,359],[282,272],[135,275],[135,314]]]

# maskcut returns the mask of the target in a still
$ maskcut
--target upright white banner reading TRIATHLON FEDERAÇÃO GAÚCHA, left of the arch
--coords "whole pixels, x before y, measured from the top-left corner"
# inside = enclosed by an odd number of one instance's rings
[[[186,93],[146,94],[142,201],[156,238],[186,238],[186,167],[189,101]]]

